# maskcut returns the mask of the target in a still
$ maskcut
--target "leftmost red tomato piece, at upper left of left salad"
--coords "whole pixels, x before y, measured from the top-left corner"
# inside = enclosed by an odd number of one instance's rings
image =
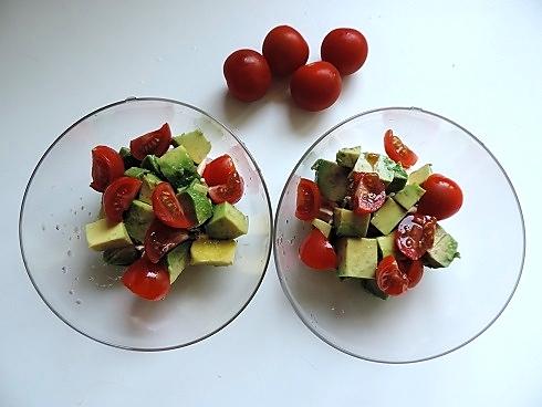
[[[124,161],[121,155],[107,146],[92,149],[92,184],[91,188],[103,192],[115,179],[124,175]]]

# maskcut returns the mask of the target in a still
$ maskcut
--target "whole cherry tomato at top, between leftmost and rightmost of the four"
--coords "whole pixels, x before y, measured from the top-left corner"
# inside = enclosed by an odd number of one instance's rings
[[[306,63],[309,45],[293,28],[279,25],[265,35],[262,54],[273,74],[285,76]]]

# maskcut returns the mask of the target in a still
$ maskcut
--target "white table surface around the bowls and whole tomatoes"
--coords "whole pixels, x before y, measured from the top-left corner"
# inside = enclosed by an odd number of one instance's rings
[[[259,49],[280,23],[303,33],[311,61],[333,28],[366,34],[366,65],[326,112],[294,108],[280,85],[249,105],[225,96],[225,58]],[[0,1],[0,406],[541,406],[541,66],[540,0]],[[316,338],[271,262],[247,310],[194,346],[147,354],[83,337],[27,276],[20,202],[60,133],[132,95],[185,101],[225,122],[253,153],[273,207],[300,155],[337,122],[392,105],[450,117],[494,153],[522,204],[528,254],[512,302],[459,351],[376,364]]]

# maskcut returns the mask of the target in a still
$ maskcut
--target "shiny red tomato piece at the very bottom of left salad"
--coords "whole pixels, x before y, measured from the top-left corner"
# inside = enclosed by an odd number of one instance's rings
[[[154,264],[145,255],[132,263],[123,274],[123,284],[142,299],[158,301],[169,292],[169,271]]]

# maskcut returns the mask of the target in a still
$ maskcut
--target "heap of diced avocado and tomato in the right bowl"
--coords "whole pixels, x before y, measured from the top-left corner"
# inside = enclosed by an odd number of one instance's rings
[[[392,129],[386,154],[342,148],[335,160],[317,159],[314,180],[298,184],[295,217],[311,222],[301,261],[358,279],[386,300],[418,284],[424,268],[447,268],[459,258],[458,242],[440,225],[462,205],[461,188],[426,164]]]

